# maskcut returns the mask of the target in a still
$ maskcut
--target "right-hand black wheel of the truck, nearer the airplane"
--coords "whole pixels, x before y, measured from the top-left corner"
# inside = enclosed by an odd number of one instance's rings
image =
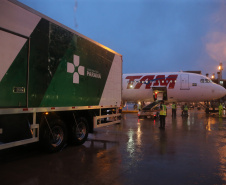
[[[84,117],[80,117],[70,129],[70,142],[76,145],[82,145],[89,133],[89,126]]]

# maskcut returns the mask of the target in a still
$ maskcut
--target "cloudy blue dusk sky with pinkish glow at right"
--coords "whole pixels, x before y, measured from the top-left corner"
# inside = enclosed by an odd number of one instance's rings
[[[226,78],[226,0],[19,0],[123,55],[123,73]]]

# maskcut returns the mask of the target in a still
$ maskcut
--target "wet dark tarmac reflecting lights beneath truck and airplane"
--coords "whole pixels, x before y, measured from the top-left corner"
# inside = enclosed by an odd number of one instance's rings
[[[123,114],[82,146],[46,154],[36,145],[0,152],[1,185],[226,184],[226,118],[190,110],[159,120]]]

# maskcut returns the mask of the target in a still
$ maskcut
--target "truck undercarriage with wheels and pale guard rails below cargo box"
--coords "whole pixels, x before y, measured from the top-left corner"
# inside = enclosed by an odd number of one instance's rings
[[[90,115],[87,120],[87,114],[89,112],[91,112],[93,115]],[[110,112],[110,114],[106,114],[107,112]],[[118,107],[104,106],[0,109],[0,117],[6,115],[12,116],[26,114],[24,117],[27,118],[27,128],[29,130],[25,130],[24,127],[21,127],[21,130],[23,132],[30,132],[29,138],[7,143],[2,142],[0,144],[0,150],[38,141],[41,141],[45,148],[50,152],[61,150],[67,142],[83,144],[88,137],[88,132],[93,132],[94,128],[120,123],[121,114],[117,112]],[[98,115],[94,115],[97,113]],[[67,119],[65,119],[65,117],[67,117],[68,115],[71,115],[71,117],[74,118],[71,120],[74,120],[74,125],[77,127],[76,132],[73,134],[68,134],[68,132],[70,132],[70,129],[73,128],[70,123],[71,121],[68,122]],[[80,123],[78,123],[79,120],[82,120],[83,122],[85,122],[85,124],[81,125],[81,121]],[[53,122],[57,124],[51,125],[51,123]],[[40,127],[48,128],[42,130]],[[48,136],[46,138],[46,130],[49,131],[48,134],[50,134],[52,137]],[[0,128],[0,136],[4,135],[4,133],[5,130],[3,128]]]

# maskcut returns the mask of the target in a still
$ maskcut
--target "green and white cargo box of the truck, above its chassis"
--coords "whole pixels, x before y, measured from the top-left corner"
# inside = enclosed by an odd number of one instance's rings
[[[5,8],[8,6],[8,9],[17,11],[11,2],[5,0],[3,2],[6,3]],[[30,13],[20,7],[18,9],[23,14]],[[28,17],[24,23],[23,19],[15,21],[14,16],[17,14],[5,14],[4,22],[13,20],[14,27],[20,30],[19,34],[29,36],[30,46],[28,39],[23,38],[24,43],[21,44],[20,49],[17,49],[11,67],[2,72],[4,80],[0,82],[0,86],[6,87],[8,84],[8,93],[0,94],[0,99],[5,100],[5,103],[0,101],[0,107],[67,107],[120,103],[121,84],[113,79],[116,76],[121,78],[121,74],[114,72],[117,68],[121,68],[121,56],[56,23],[34,15],[32,19],[35,17],[36,26],[34,27],[35,24],[33,24],[29,28],[29,30],[33,28],[33,31],[28,33],[19,26],[19,24],[24,24],[24,27],[29,25],[32,21]],[[7,27],[7,24],[1,23],[0,27],[9,32],[15,31],[12,26]],[[8,41],[9,39],[5,42]],[[19,41],[15,39],[14,42]],[[10,53],[8,55],[10,56]],[[29,59],[27,59],[28,55]],[[26,71],[28,61],[29,71]],[[1,65],[3,63],[4,61]],[[112,65],[113,63],[117,64]],[[112,72],[109,76],[110,70]],[[15,71],[23,73],[21,75],[23,80],[19,79]],[[27,74],[29,74],[28,89],[26,89]],[[107,79],[108,85],[106,86]],[[17,80],[21,83],[16,83]],[[115,86],[118,92],[113,89]],[[13,91],[15,87],[24,88],[24,90],[15,93]],[[28,97],[26,97],[26,92],[28,92]],[[26,105],[26,98],[28,98],[28,105]],[[12,103],[8,104],[10,101]]]

